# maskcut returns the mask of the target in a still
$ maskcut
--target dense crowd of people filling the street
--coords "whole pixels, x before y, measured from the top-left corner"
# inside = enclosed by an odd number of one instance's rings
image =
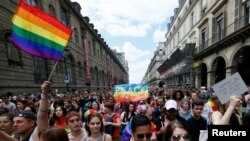
[[[2,95],[0,140],[199,141],[208,125],[250,124],[250,87],[223,104],[204,87],[149,88],[148,99],[126,103],[112,91],[51,92],[45,81],[37,96]]]

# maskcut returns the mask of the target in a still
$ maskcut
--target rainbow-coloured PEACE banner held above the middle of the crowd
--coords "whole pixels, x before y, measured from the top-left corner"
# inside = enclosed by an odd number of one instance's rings
[[[149,97],[147,84],[123,84],[114,86],[116,102],[136,102]]]

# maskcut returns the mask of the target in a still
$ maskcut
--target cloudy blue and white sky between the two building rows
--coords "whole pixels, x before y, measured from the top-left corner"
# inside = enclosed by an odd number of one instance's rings
[[[111,49],[125,52],[129,83],[141,83],[178,0],[72,0]]]

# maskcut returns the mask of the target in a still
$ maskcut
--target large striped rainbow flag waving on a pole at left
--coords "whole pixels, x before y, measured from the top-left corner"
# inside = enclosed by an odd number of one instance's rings
[[[12,18],[12,41],[21,50],[59,61],[72,30],[57,19],[21,0]]]

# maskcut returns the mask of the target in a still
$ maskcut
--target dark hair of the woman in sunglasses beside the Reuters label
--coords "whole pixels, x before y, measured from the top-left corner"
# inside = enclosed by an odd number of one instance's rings
[[[173,132],[176,128],[181,128],[187,131],[188,135],[190,135],[188,127],[183,122],[180,122],[178,120],[174,120],[170,122],[167,126],[166,132],[165,132],[165,141],[170,141],[171,136],[173,135]]]

